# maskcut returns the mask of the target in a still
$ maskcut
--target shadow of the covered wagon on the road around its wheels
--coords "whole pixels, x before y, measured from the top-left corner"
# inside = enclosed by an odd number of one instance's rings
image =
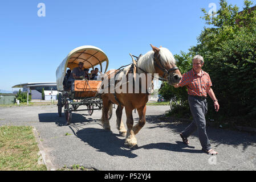
[[[62,113],[62,117],[59,117],[58,113],[40,113],[38,114],[39,122],[55,122],[58,126],[66,126],[67,121]],[[85,122],[99,122],[99,119],[92,119],[91,116],[86,114],[72,113],[71,123],[85,123]]]

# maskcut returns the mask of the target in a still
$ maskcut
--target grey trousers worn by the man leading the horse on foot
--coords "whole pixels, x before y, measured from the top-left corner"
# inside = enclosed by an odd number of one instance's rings
[[[184,131],[182,131],[182,135],[184,137],[189,137],[194,133],[194,131],[198,131],[198,137],[202,146],[202,150],[210,150],[211,145],[206,134],[206,121],[205,115],[207,113],[207,101],[206,99],[189,96],[189,107],[193,116],[193,122],[186,127]]]

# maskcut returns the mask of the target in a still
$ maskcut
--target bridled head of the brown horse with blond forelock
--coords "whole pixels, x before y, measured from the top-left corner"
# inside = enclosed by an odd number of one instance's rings
[[[163,80],[167,81],[169,85],[175,85],[180,82],[182,76],[178,67],[176,67],[175,59],[172,53],[163,47],[157,48],[152,46],[154,51],[154,66],[155,72],[159,74]]]

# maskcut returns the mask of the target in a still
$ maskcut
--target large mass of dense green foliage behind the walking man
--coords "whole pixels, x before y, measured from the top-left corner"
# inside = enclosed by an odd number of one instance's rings
[[[178,62],[182,62],[178,63],[182,73],[192,68],[189,61],[193,55],[203,56],[203,69],[209,73],[221,105],[218,119],[233,119],[247,126],[256,126],[256,10],[250,9],[252,4],[245,0],[239,13],[237,6],[220,0],[217,16],[210,16],[202,9],[201,18],[207,27],[198,36],[197,45],[188,53],[176,55]],[[182,100],[183,88],[178,89],[169,90]],[[212,101],[209,102],[209,114],[216,117]]]

